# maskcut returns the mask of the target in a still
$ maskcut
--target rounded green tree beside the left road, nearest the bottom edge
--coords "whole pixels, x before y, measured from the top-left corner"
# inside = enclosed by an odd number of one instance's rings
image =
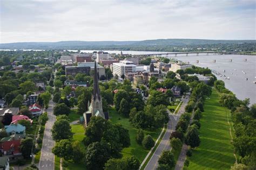
[[[68,139],[60,140],[56,142],[55,147],[52,148],[52,153],[59,158],[70,160],[72,158],[73,147],[72,143]]]

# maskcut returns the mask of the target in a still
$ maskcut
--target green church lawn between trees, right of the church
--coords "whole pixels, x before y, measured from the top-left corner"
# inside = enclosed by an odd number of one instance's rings
[[[139,145],[136,142],[135,138],[138,130],[131,125],[128,118],[124,118],[122,115],[118,114],[114,108],[110,108],[109,112],[110,112],[110,120],[112,121],[113,124],[120,123],[129,130],[131,145],[130,147],[123,149],[122,151],[123,156],[129,157],[131,155],[135,155],[140,160],[140,162],[142,162],[146,157],[147,153],[149,152],[149,150],[145,149],[142,145]],[[144,133],[145,135],[150,134],[154,139],[154,141],[156,141],[159,134],[161,133],[161,128],[153,132],[144,131]]]

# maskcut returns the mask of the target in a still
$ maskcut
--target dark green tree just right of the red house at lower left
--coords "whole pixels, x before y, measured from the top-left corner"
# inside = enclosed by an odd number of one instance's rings
[[[33,143],[32,138],[25,138],[21,140],[21,149],[22,155],[24,158],[30,158],[31,148],[35,148],[35,144]]]

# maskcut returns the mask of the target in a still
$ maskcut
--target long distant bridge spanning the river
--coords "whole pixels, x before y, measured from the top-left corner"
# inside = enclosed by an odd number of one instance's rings
[[[132,55],[134,57],[150,57],[150,56],[157,56],[157,57],[171,57],[169,55],[174,55],[174,57],[177,57],[177,55],[186,55],[188,56],[188,54],[197,54],[197,56],[199,56],[200,53],[205,53],[206,56],[208,56],[209,54],[213,54],[213,55],[223,55],[224,52],[215,52],[215,51],[204,51],[204,52],[166,52],[166,53],[154,53],[154,54],[146,54],[146,55]]]

